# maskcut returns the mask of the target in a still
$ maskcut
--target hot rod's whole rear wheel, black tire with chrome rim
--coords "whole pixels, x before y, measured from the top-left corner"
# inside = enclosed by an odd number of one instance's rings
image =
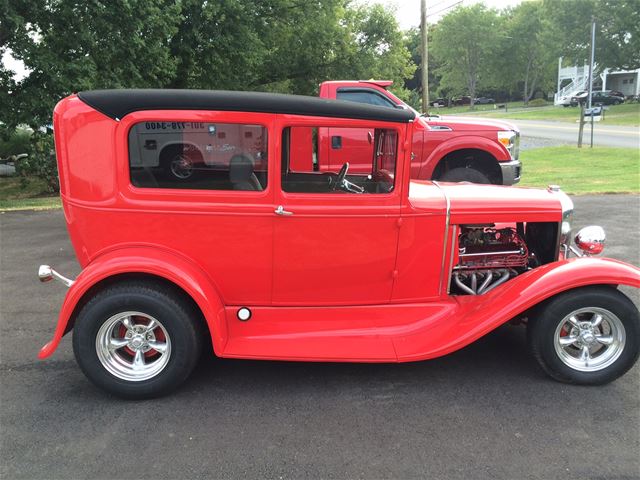
[[[73,352],[84,374],[129,399],[175,389],[201,349],[193,308],[152,283],[126,282],[101,291],[82,308],[73,331]]]

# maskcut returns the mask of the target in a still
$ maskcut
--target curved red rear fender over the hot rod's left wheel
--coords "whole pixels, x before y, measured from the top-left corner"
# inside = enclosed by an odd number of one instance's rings
[[[87,291],[114,275],[148,274],[168,280],[182,288],[202,311],[211,332],[214,351],[218,354],[227,340],[223,302],[209,276],[196,264],[173,252],[155,247],[124,247],[111,250],[94,259],[67,291],[53,338],[38,354],[49,357],[67,331],[76,307]]]

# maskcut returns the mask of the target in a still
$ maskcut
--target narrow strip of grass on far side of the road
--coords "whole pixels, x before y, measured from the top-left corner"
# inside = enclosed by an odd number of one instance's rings
[[[482,107],[486,107],[483,105]],[[437,113],[441,115],[472,115],[487,118],[504,118],[514,120],[551,120],[558,122],[575,123],[580,116],[578,107],[547,107],[523,108],[509,104],[508,111],[491,109],[470,110],[469,107],[441,108]],[[604,119],[599,123],[603,125],[640,125],[640,103],[625,103],[622,105],[609,105],[605,111]]]

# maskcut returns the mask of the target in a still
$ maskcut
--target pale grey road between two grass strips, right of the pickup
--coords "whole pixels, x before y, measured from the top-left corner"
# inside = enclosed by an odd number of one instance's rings
[[[568,144],[577,144],[578,142],[577,123],[512,119],[507,121],[515,123],[523,137],[545,138]],[[583,143],[585,145],[589,145],[590,135],[591,126],[585,125],[583,135]],[[608,147],[640,148],[640,128],[594,123],[593,144]]]

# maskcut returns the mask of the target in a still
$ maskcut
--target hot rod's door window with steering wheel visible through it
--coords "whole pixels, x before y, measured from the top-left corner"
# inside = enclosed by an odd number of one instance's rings
[[[393,191],[395,129],[293,126],[282,132],[282,189],[292,193]]]

